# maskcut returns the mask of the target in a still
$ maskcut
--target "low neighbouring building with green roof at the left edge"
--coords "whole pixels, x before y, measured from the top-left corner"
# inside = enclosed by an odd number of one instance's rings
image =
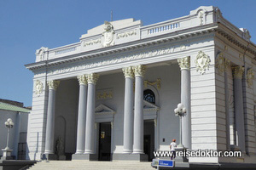
[[[13,150],[12,156],[16,160],[26,159],[27,118],[30,111],[23,103],[0,99],[0,149],[4,149],[7,142],[7,128],[4,122],[11,118],[15,125],[9,133],[9,148]],[[2,151],[0,156],[3,156]]]

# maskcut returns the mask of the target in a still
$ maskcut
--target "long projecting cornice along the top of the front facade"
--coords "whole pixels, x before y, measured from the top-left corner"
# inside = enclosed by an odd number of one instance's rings
[[[133,42],[125,42],[125,43],[114,45],[108,48],[99,48],[99,49],[90,50],[90,51],[79,53],[79,54],[67,55],[61,58],[40,61],[37,63],[25,65],[25,66],[27,69],[33,71],[46,66],[48,67],[48,66],[54,66],[54,65],[61,65],[64,63],[72,63],[79,60],[106,56],[108,54],[125,53],[131,50],[146,48],[146,47],[152,48],[155,45],[159,46],[160,44],[165,44],[167,42],[178,42],[182,40],[187,40],[189,38],[200,37],[201,35],[212,33],[215,31],[217,26],[218,25],[216,23],[212,23],[204,26],[196,26],[193,28],[166,33],[166,34],[162,34],[155,37],[148,37],[148,38],[140,39]]]

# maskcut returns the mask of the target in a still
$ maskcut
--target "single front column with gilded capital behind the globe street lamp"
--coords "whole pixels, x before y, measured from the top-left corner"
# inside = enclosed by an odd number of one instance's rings
[[[177,59],[177,63],[181,70],[181,103],[187,109],[182,118],[182,142],[185,148],[191,149],[190,57]]]

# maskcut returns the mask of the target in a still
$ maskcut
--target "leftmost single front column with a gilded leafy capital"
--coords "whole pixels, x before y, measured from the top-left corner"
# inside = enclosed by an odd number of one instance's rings
[[[54,137],[55,137],[55,91],[58,88],[59,81],[47,82],[49,86],[48,111],[45,135],[45,151],[44,153],[54,154]]]

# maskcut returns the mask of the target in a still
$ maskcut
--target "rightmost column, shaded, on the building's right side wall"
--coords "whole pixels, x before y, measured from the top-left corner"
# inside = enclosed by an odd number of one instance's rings
[[[241,151],[245,148],[245,125],[243,113],[243,96],[242,96],[242,82],[244,68],[242,66],[233,67],[234,74],[234,104],[235,104],[235,124],[236,124],[236,145]]]

